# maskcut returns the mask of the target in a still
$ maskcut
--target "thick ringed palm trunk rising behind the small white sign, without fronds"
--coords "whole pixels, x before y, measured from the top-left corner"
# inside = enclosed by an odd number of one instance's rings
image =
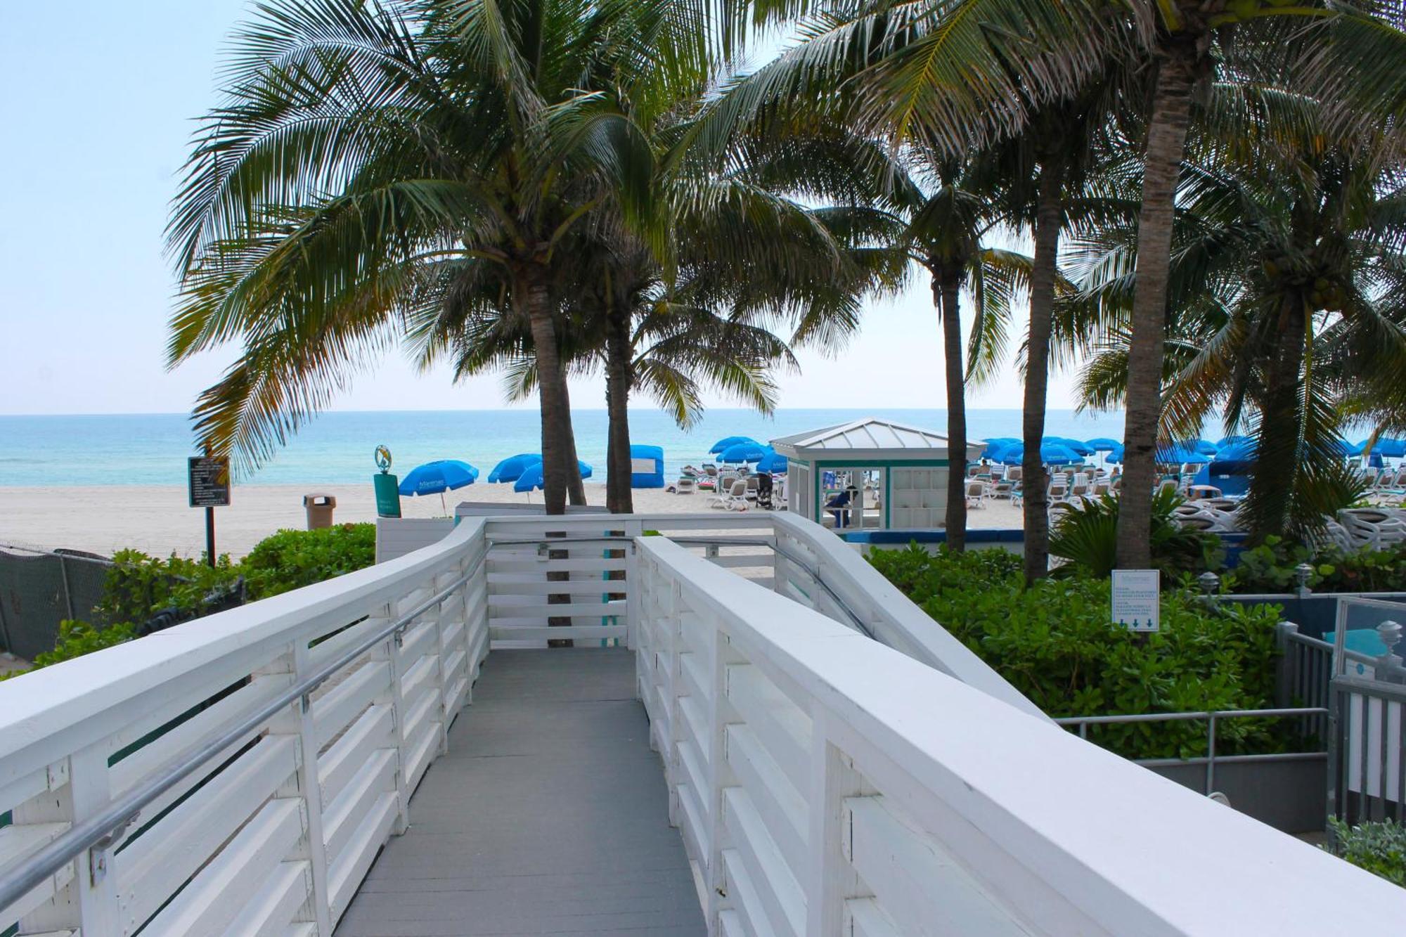
[[[1125,570],[1152,566],[1152,487],[1157,467],[1157,423],[1161,419],[1171,225],[1181,158],[1187,145],[1195,65],[1194,42],[1178,41],[1167,48],[1166,58],[1157,66],[1147,125],[1142,211],[1137,218],[1137,276],[1128,349],[1123,491],[1118,508],[1118,567]]]

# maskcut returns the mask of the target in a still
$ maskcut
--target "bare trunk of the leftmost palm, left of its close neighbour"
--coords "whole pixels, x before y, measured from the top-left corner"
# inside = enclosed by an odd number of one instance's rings
[[[540,270],[527,267],[513,283],[513,300],[531,328],[537,356],[537,394],[541,402],[541,487],[547,514],[567,512],[567,459],[575,449],[571,436],[571,401],[567,374],[557,349],[551,295]]]

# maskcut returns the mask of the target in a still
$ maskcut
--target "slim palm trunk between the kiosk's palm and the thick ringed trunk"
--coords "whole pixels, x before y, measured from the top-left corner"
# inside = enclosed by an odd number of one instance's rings
[[[1054,315],[1054,276],[1059,272],[1059,234],[1064,221],[1060,191],[1064,165],[1047,159],[1040,165],[1039,203],[1035,211],[1035,259],[1031,267],[1031,333],[1025,352],[1025,401],[1021,460],[1025,490],[1025,581],[1046,575],[1050,568],[1049,491],[1040,440],[1045,439],[1045,404],[1049,384],[1050,321]]]

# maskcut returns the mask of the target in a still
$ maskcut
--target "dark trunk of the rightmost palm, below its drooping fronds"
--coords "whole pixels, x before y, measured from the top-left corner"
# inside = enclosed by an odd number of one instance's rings
[[[1260,445],[1244,505],[1253,543],[1261,543],[1271,535],[1284,536],[1289,526],[1289,506],[1298,480],[1298,473],[1291,466],[1298,466],[1303,459],[1299,452],[1299,387],[1306,329],[1303,300],[1289,294],[1279,310],[1278,340],[1264,378]],[[1261,473],[1260,466],[1270,470]]]

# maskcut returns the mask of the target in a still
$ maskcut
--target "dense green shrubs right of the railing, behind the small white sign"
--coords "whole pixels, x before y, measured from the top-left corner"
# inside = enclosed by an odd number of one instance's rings
[[[1161,630],[1112,623],[1109,584],[1074,575],[1026,588],[1002,550],[929,556],[875,550],[870,561],[953,636],[1052,716],[1258,709],[1272,705],[1275,606],[1206,609],[1163,594]],[[1091,726],[1088,737],[1133,758],[1205,754],[1202,722]],[[1216,726],[1226,754],[1278,751],[1272,720]]]

